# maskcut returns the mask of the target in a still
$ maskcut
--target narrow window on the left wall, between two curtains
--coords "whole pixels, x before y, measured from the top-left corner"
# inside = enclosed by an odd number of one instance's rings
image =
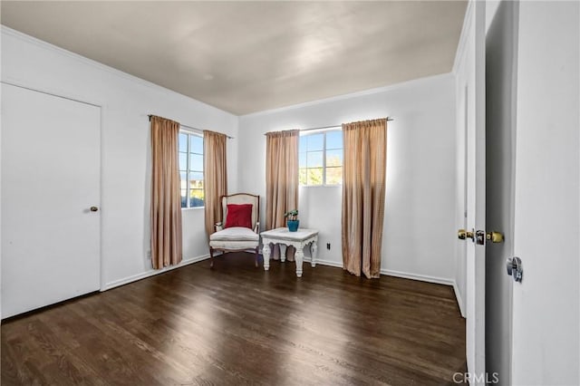
[[[203,207],[203,137],[179,131],[181,207]]]

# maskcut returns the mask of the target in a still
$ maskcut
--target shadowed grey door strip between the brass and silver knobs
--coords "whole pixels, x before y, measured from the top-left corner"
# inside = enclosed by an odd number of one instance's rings
[[[516,138],[517,2],[498,5],[486,36],[486,227],[505,236],[486,246],[486,371],[509,384],[514,254],[514,155]]]

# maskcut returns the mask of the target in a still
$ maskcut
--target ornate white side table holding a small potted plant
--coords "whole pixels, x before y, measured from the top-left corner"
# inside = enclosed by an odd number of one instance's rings
[[[302,264],[304,262],[304,246],[310,245],[312,255],[311,265],[316,266],[316,252],[318,250],[318,230],[299,228],[296,232],[290,232],[287,227],[278,227],[266,232],[260,233],[262,236],[262,254],[264,256],[264,270],[270,269],[270,243],[280,246],[280,259],[284,262],[286,259],[286,246],[296,248],[296,276],[302,277]]]

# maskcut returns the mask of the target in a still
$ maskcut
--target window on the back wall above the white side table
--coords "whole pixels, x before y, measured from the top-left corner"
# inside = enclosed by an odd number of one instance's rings
[[[343,183],[343,131],[329,130],[300,136],[298,150],[300,185]]]

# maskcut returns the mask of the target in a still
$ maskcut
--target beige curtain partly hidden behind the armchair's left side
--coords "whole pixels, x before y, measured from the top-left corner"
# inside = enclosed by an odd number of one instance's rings
[[[221,218],[219,198],[227,195],[227,136],[214,131],[203,132],[203,190],[206,212],[206,232],[215,232],[214,225],[226,218]]]

